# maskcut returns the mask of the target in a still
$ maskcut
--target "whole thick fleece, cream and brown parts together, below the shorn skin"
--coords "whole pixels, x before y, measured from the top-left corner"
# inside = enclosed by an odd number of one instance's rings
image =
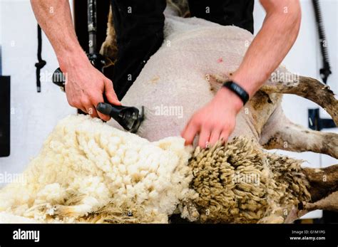
[[[149,142],[71,115],[31,161],[24,183],[1,189],[0,222],[168,223],[180,214],[193,222],[282,223],[299,204],[337,191],[337,167],[318,191],[324,171],[301,164],[247,137],[193,150],[182,137]]]

